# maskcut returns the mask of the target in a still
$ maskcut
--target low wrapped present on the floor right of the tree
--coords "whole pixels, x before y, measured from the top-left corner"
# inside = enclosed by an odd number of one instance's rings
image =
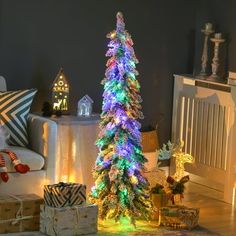
[[[199,208],[186,206],[168,206],[159,210],[159,224],[177,228],[192,229],[198,225]]]

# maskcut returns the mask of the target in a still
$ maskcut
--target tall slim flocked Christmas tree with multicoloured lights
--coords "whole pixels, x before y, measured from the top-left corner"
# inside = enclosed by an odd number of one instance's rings
[[[117,13],[116,30],[107,35],[107,69],[104,85],[99,155],[94,169],[95,186],[91,200],[99,205],[101,219],[119,221],[127,216],[131,223],[150,210],[149,183],[143,176],[144,163],[140,145],[141,97],[130,34],[125,30],[122,13]]]

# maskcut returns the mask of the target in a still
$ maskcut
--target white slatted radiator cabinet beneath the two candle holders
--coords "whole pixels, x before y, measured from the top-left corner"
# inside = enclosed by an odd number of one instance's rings
[[[222,186],[224,200],[234,203],[236,87],[186,75],[174,79],[172,141],[182,139],[184,151],[195,158],[186,170],[206,185]]]

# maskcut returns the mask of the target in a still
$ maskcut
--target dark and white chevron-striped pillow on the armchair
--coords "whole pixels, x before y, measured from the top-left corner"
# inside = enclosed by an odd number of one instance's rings
[[[0,92],[0,121],[10,133],[9,144],[28,145],[27,118],[36,89]]]

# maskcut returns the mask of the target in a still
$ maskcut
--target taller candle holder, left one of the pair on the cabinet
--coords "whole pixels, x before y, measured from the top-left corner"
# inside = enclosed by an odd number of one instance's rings
[[[205,29],[202,29],[201,32],[205,35],[204,37],[204,45],[202,50],[202,57],[201,57],[201,71],[198,77],[201,79],[205,79],[207,76],[207,61],[208,61],[208,38],[209,36],[214,33],[212,29],[211,23],[206,23]]]

